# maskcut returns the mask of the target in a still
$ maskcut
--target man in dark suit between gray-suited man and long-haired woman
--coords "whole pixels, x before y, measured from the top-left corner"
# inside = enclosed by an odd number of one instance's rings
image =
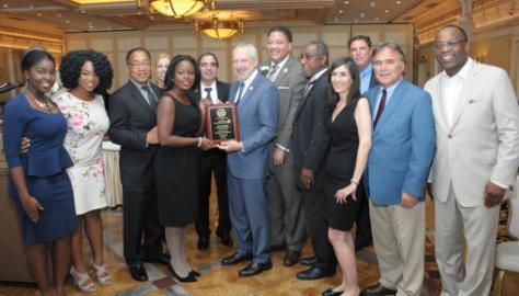
[[[304,96],[293,119],[292,144],[296,181],[303,201],[315,259],[301,259],[310,269],[299,272],[299,280],[318,280],[335,274],[336,259],[327,238],[324,217],[323,160],[326,153],[324,106],[327,81],[328,48],[323,42],[311,42],[301,53],[301,66],[308,78]]]

